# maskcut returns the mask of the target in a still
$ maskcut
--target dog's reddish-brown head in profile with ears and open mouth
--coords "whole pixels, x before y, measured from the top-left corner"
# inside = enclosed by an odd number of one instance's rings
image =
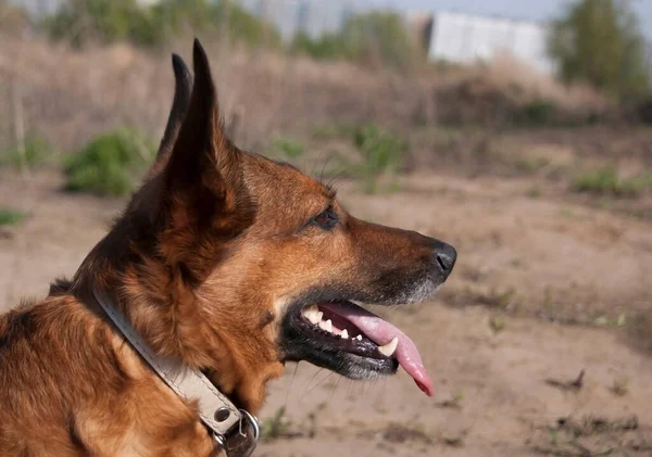
[[[412,341],[354,303],[428,296],[455,250],[356,219],[328,186],[236,148],[198,41],[193,63],[192,78],[174,58],[176,94],[156,162],[91,254],[121,270],[135,327],[252,410],[288,360],[354,379],[401,365],[430,393]]]

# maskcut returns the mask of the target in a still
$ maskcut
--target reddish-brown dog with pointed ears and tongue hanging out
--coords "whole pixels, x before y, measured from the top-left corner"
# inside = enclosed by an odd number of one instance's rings
[[[209,456],[197,412],[143,363],[99,306],[110,294],[153,352],[201,370],[256,412],[284,364],[353,379],[401,365],[431,394],[400,330],[352,302],[396,305],[434,292],[455,251],[367,224],[290,165],[223,134],[209,62],[176,91],[160,152],[112,230],[72,281],[0,316],[0,456]]]

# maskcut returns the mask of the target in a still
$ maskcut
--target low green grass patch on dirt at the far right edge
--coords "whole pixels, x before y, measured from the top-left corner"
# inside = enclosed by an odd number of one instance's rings
[[[580,174],[573,183],[576,192],[616,198],[636,198],[652,188],[652,174],[620,178],[615,167],[603,167]]]

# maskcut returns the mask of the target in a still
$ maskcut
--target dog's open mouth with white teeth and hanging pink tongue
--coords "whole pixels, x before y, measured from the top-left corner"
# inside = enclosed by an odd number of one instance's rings
[[[432,396],[432,382],[414,342],[392,323],[351,303],[294,307],[285,322],[288,359],[304,359],[352,379],[393,375],[401,366]]]

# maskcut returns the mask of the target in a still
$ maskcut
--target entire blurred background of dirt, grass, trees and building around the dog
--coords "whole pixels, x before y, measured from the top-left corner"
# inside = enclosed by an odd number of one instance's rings
[[[652,3],[0,0],[0,309],[72,276],[151,161],[171,52],[229,135],[452,243],[418,344],[271,385],[259,456],[652,455]]]

